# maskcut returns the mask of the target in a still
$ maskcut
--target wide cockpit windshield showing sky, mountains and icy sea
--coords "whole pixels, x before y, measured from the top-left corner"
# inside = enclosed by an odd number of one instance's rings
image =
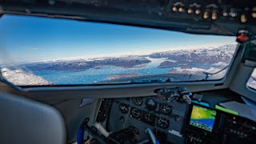
[[[0,65],[18,86],[218,80],[234,37],[4,15]]]

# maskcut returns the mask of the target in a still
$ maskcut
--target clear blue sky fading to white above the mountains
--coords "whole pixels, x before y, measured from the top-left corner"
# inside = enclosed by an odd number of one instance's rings
[[[12,62],[149,54],[235,43],[234,37],[227,36],[18,15],[0,18],[0,34],[0,57]]]

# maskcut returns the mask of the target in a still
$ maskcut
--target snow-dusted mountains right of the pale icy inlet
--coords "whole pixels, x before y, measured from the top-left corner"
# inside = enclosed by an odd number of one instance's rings
[[[218,62],[230,63],[236,45],[224,45],[208,49],[174,50],[150,54],[150,58],[167,58],[158,67],[164,68],[183,64],[213,65]]]

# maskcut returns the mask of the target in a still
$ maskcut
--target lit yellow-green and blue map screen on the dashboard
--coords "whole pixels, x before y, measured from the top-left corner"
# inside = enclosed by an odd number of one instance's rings
[[[211,132],[214,128],[216,114],[215,110],[194,105],[190,116],[190,125]]]

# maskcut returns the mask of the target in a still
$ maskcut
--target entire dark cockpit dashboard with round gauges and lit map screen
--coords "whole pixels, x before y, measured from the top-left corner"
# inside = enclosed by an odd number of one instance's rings
[[[159,95],[103,99],[96,122],[114,133],[132,131],[131,143],[143,143],[148,138],[146,128],[160,143],[256,143],[256,122],[250,119],[214,105],[167,102]]]

